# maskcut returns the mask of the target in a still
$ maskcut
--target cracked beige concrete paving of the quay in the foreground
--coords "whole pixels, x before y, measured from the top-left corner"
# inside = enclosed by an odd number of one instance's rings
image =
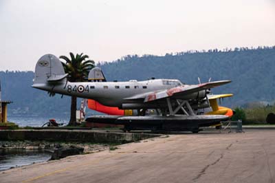
[[[0,182],[275,182],[275,131],[181,133],[0,172]]]

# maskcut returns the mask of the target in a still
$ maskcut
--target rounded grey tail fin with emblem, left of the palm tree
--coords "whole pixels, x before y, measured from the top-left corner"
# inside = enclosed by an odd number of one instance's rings
[[[53,54],[45,54],[36,63],[34,84],[54,82],[66,76],[61,61]]]

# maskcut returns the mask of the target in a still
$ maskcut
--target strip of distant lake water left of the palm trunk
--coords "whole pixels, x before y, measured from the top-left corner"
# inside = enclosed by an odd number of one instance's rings
[[[19,127],[41,127],[45,122],[48,122],[49,119],[53,118],[52,116],[8,116],[8,121],[15,122]],[[69,121],[69,116],[58,116],[54,118],[58,123],[65,123]]]

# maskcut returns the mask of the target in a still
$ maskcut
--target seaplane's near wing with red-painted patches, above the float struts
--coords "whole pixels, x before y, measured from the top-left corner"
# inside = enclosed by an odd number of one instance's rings
[[[164,89],[157,92],[150,92],[146,94],[144,98],[144,103],[148,103],[153,100],[159,100],[162,98],[168,98],[172,96],[182,96],[182,95],[192,94],[194,92],[199,92],[204,89],[225,85],[230,82],[231,80],[218,80],[218,81],[213,81],[209,83],[201,83],[199,85],[181,85],[179,87]],[[135,98],[132,98],[132,99],[135,99]]]

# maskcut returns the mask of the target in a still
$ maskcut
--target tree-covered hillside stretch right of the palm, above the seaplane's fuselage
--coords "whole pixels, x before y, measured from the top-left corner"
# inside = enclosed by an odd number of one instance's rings
[[[236,107],[252,101],[275,99],[275,47],[257,49],[180,52],[166,56],[125,56],[100,65],[107,80],[178,78],[186,84],[230,79],[232,83],[212,89],[214,93],[233,93],[225,105]]]

